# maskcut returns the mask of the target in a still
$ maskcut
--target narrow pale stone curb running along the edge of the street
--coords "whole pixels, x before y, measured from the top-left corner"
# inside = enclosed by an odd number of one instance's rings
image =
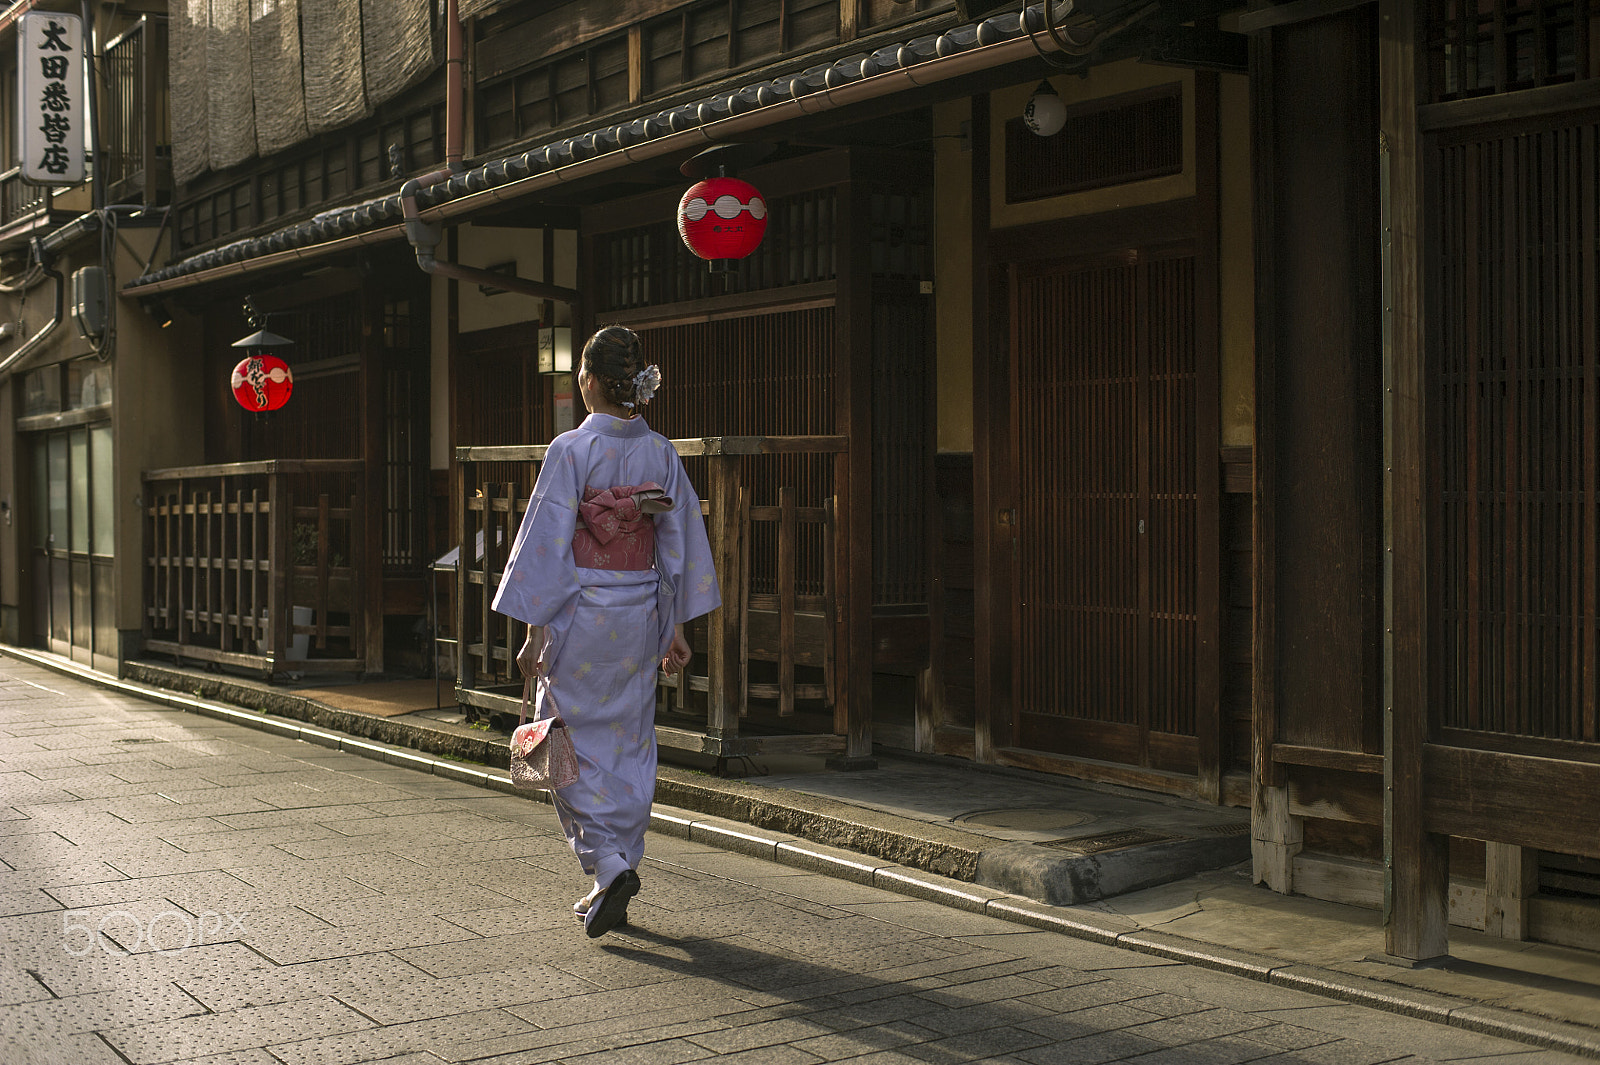
[[[302,739],[331,750],[342,750],[363,758],[373,758],[387,764],[419,769],[442,779],[459,780],[462,784],[472,784],[494,792],[518,795],[531,801],[549,803],[549,795],[546,792],[518,790],[504,772],[440,761],[430,755],[384,740],[360,739],[312,724],[294,724],[267,716],[264,712],[242,710],[238,707],[222,705],[198,696],[181,696],[146,683],[117,680],[75,662],[67,662],[53,654],[3,646],[0,648],[0,657],[14,657],[22,662],[30,662],[42,668],[64,673],[99,688],[136,696],[174,710],[219,718],[264,732]],[[224,686],[226,684],[218,684],[218,688]],[[331,715],[350,715],[350,712],[330,710],[328,707],[322,707],[322,704],[315,704],[309,699],[294,699],[302,704],[309,704],[310,707],[326,710]],[[314,712],[307,710],[307,713]],[[363,720],[373,718],[373,715],[350,716]],[[384,718],[376,720],[384,721]],[[493,740],[488,739],[483,742],[493,744]],[[504,742],[501,742],[501,748],[504,748]],[[738,795],[742,788],[730,790]],[[685,793],[693,795],[693,788],[686,788]],[[763,803],[749,804],[742,804],[734,800],[731,808],[758,809],[762,804],[773,806],[765,800]],[[837,806],[843,808],[846,804],[837,803]],[[1114,915],[1094,910],[1051,907],[1042,902],[1034,902],[1032,899],[942,876],[923,868],[907,867],[888,859],[877,859],[853,849],[816,843],[797,835],[786,835],[766,827],[715,814],[698,816],[696,811],[677,809],[672,804],[662,804],[659,801],[651,811],[650,827],[653,832],[659,832],[661,835],[704,843],[718,849],[760,857],[813,873],[837,876],[858,884],[882,888],[885,891],[938,902],[971,913],[986,913],[1014,924],[1059,932],[1074,939],[1083,939],[1110,947],[1122,947],[1125,950],[1133,950],[1155,958],[1166,958],[1170,961],[1202,966],[1205,969],[1275,983],[1278,987],[1310,991],[1325,998],[1366,1006],[1370,1009],[1379,1009],[1390,1014],[1416,1017],[1421,1020],[1432,1020],[1435,1023],[1466,1028],[1501,1039],[1600,1059],[1600,1028],[1589,1028],[1562,1020],[1549,1020],[1526,1012],[1485,1006],[1459,996],[1386,983],[1382,980],[1358,977],[1336,969],[1288,963],[1266,955],[1254,955],[1243,950],[1234,950],[1230,947],[1187,939],[1184,935],[1174,935],[1171,932],[1142,929],[1133,921],[1117,918]]]

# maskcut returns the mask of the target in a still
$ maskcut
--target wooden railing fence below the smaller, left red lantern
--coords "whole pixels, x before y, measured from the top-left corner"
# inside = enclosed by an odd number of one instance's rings
[[[266,676],[374,672],[360,461],[144,473],[147,651]]]

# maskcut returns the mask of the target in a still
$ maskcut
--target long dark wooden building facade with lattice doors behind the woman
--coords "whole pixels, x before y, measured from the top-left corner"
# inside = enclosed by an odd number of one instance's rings
[[[1448,919],[1600,945],[1600,822],[1563,798],[1600,772],[1592,5],[1094,5],[1070,58],[954,0],[422,6],[429,64],[213,144],[125,267],[176,333],[94,417],[203,416],[107,473],[141,504],[98,662],[443,662],[493,712],[494,560],[582,416],[555,352],[616,321],[738,576],[664,728],[1250,806],[1259,881],[1389,900],[1406,959]],[[768,149],[723,275],[674,225],[714,142]],[[246,297],[299,345],[266,422],[213,387]],[[19,419],[19,381],[11,438],[88,417]],[[48,529],[32,462],[0,496]],[[0,536],[6,635],[48,641]]]

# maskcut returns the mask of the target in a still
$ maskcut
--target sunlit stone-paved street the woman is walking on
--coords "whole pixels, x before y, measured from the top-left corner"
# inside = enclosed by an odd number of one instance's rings
[[[1582,1059],[651,836],[0,659],[0,1062]]]

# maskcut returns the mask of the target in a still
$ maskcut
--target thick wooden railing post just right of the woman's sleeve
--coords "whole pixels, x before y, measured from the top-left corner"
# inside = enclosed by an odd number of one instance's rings
[[[739,704],[744,691],[739,664],[742,641],[741,614],[747,588],[739,568],[739,489],[742,467],[739,456],[707,449],[710,469],[710,552],[717,564],[722,606],[707,622],[706,736],[725,745],[739,736]]]

